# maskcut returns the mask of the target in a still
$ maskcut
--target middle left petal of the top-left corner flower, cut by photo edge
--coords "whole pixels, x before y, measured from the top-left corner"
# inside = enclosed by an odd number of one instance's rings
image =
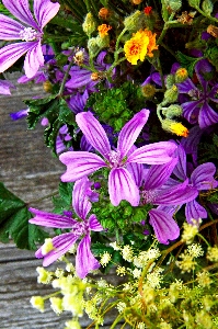
[[[15,20],[0,14],[0,39],[21,39],[20,32],[24,27]]]

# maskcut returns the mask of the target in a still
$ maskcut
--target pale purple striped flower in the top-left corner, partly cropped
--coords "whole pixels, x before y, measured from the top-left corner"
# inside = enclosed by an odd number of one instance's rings
[[[23,41],[0,49],[0,72],[5,71],[26,54],[24,70],[26,77],[32,78],[39,66],[44,65],[41,45],[43,27],[57,14],[60,5],[49,0],[34,0],[34,20],[27,0],[2,0],[2,2],[24,24],[0,14],[0,39]]]

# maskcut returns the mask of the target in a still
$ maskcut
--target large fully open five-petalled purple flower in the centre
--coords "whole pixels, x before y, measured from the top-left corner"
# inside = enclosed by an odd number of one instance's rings
[[[174,143],[160,141],[133,150],[134,143],[149,116],[149,110],[141,110],[123,127],[117,140],[117,149],[112,150],[105,131],[91,112],[81,112],[76,121],[87,140],[99,151],[103,159],[87,151],[68,151],[59,159],[67,166],[64,182],[73,182],[101,168],[108,168],[108,193],[111,203],[117,206],[122,200],[133,206],[139,204],[139,189],[128,171],[128,163],[161,164],[169,162],[176,146]]]

